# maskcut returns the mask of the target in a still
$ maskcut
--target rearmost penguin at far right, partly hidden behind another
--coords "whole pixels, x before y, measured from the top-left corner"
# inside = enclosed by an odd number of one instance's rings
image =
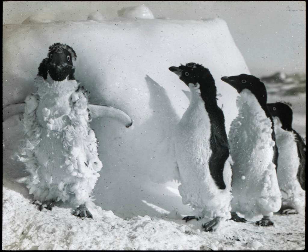
[[[305,211],[306,144],[292,128],[293,112],[286,103],[268,103],[278,147],[277,178],[282,193],[281,214]]]

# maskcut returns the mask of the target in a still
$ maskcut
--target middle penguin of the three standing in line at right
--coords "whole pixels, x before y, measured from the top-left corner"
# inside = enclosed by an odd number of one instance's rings
[[[256,224],[273,225],[270,217],[281,206],[281,193],[275,171],[278,150],[273,119],[266,106],[265,85],[257,77],[247,74],[222,77],[221,80],[240,94],[238,116],[229,130],[233,160],[232,219],[246,221],[236,212],[250,219],[263,215]]]

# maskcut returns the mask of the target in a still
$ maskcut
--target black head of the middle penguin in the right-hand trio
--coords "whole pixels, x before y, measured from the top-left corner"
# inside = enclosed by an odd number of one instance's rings
[[[244,89],[250,90],[251,93],[256,96],[260,104],[266,104],[266,88],[264,83],[261,82],[259,78],[242,73],[236,76],[224,76],[221,77],[221,80],[235,88],[238,93],[241,93]]]

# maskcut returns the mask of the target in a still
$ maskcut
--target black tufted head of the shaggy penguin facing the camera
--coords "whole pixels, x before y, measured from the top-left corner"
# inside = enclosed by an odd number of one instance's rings
[[[76,60],[76,53],[70,46],[55,43],[49,47],[47,54],[46,69],[54,81],[63,81],[67,77],[74,78],[75,67],[73,60]]]

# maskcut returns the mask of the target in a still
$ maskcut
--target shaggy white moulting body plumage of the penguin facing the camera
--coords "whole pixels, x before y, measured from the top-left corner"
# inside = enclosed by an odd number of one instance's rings
[[[87,97],[75,80],[45,81],[37,77],[38,91],[26,98],[25,145],[19,160],[34,200],[86,203],[102,163],[96,137],[89,127]]]

